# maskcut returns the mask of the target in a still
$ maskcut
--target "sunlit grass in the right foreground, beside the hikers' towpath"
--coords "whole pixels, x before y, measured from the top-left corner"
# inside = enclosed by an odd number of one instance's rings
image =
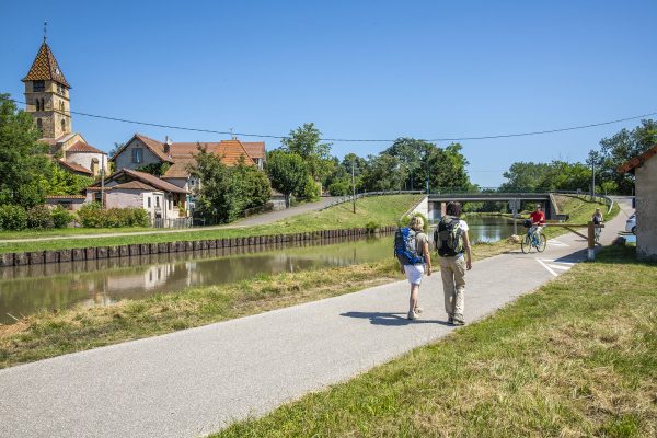
[[[214,437],[657,436],[657,265],[597,262],[436,344]]]

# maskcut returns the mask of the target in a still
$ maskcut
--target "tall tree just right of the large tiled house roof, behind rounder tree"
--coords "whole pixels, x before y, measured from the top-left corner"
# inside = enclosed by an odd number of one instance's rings
[[[287,152],[300,155],[313,180],[325,185],[326,178],[335,171],[336,163],[331,157],[331,143],[322,142],[322,132],[313,123],[291,130],[290,136],[280,143]]]

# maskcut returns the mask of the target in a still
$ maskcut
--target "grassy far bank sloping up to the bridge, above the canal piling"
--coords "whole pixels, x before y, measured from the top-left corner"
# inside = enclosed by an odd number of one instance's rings
[[[160,231],[143,235],[97,237],[93,239],[77,239],[76,233],[71,232],[70,239],[64,240],[0,243],[0,253],[298,233],[316,230],[360,228],[370,221],[381,226],[389,226],[395,224],[400,216],[420,199],[422,195],[368,197],[357,200],[355,215],[351,210],[351,204],[341,204],[323,211],[311,211],[274,223],[247,228],[195,229],[194,231],[176,232]],[[235,224],[239,226],[239,222]],[[119,231],[123,232],[123,230]],[[111,232],[117,231],[113,230]]]

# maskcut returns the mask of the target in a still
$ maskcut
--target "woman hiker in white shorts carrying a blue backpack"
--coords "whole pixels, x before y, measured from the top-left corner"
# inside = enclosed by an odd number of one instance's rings
[[[429,238],[423,231],[424,220],[419,216],[414,216],[411,218],[408,228],[400,228],[394,235],[394,255],[400,261],[402,272],[406,274],[411,284],[408,320],[415,320],[422,312],[422,308],[417,306],[417,295],[425,265],[427,275],[431,275]]]

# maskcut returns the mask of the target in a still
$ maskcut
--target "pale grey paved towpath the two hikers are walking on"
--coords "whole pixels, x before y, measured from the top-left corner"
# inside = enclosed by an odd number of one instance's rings
[[[610,242],[626,214],[604,229]],[[474,264],[473,322],[569,269],[586,242],[566,234],[544,253]],[[198,437],[347,380],[453,327],[440,275],[407,321],[405,281],[141,341],[0,370],[0,437]]]

